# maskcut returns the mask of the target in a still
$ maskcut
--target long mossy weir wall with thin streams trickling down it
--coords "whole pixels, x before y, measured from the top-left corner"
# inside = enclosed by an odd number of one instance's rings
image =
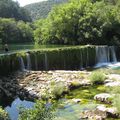
[[[116,62],[117,51],[108,46],[75,46],[2,54],[0,75],[17,70],[80,70],[98,62]]]

